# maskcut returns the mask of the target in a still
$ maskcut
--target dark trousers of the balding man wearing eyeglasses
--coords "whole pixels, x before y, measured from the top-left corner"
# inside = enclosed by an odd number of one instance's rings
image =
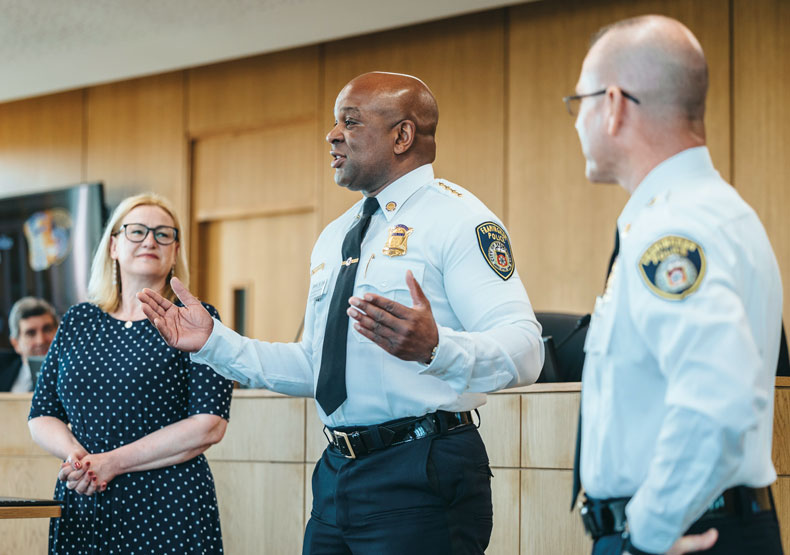
[[[702,519],[691,525],[686,534],[702,534],[710,528],[719,531],[711,549],[695,551],[709,555],[782,555],[776,512],[763,511],[747,516]],[[604,536],[593,544],[593,555],[620,555],[620,536]]]

